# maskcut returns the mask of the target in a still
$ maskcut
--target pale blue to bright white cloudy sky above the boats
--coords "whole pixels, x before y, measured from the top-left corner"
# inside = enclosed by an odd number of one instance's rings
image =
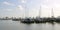
[[[0,0],[0,17],[60,16],[60,0]]]

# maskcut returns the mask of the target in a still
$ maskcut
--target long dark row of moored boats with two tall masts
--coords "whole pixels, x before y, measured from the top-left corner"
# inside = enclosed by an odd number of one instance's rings
[[[48,18],[41,18],[41,7],[39,10],[39,17],[37,18],[24,18],[23,20],[20,20],[22,23],[46,23],[46,22],[60,22],[60,19],[57,19],[54,17],[54,11],[53,8],[51,9],[51,17]]]

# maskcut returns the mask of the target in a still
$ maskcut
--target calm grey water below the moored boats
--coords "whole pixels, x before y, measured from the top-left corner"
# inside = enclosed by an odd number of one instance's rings
[[[60,24],[23,24],[20,21],[0,20],[0,30],[60,30]]]

